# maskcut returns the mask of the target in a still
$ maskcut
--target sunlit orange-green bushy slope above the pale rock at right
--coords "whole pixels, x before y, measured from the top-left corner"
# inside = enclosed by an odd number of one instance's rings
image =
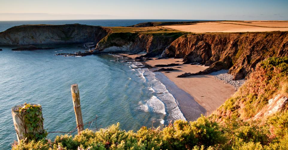
[[[239,116],[251,118],[268,100],[277,94],[286,95],[288,89],[288,57],[269,58],[257,64],[243,86],[229,98],[215,113],[216,119]]]

